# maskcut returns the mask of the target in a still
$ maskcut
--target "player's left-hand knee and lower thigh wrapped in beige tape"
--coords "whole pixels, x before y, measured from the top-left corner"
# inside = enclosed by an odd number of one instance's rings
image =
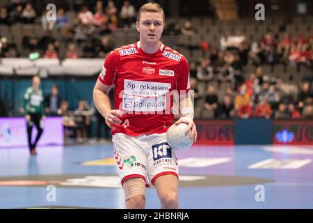
[[[145,181],[141,178],[130,178],[123,183],[127,208],[145,207]]]

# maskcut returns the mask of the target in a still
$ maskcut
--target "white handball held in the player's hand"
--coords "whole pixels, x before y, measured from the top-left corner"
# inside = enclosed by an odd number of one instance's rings
[[[193,139],[187,132],[188,125],[186,123],[180,123],[178,125],[171,125],[166,132],[166,140],[170,147],[177,151],[184,151],[193,145]]]

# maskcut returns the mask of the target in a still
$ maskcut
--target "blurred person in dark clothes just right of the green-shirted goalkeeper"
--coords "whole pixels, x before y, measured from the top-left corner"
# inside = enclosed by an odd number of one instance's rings
[[[52,84],[51,92],[45,97],[45,113],[47,116],[58,116],[62,98],[58,95],[58,86]]]

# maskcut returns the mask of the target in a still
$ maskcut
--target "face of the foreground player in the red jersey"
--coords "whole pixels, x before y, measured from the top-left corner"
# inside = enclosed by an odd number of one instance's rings
[[[141,41],[158,43],[164,29],[162,13],[141,13],[140,22],[136,22],[136,27]]]

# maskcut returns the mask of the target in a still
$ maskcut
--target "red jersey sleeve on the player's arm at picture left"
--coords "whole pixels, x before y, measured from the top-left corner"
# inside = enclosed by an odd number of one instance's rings
[[[120,55],[117,52],[111,52],[104,61],[102,71],[100,72],[98,79],[102,84],[111,86],[114,83],[116,72],[118,71],[118,63]]]

